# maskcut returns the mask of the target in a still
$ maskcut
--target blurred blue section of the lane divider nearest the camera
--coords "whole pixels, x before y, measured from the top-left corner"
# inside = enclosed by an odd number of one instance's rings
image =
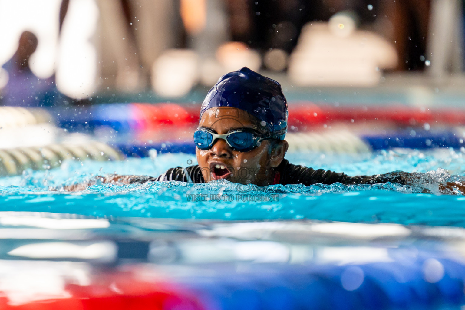
[[[465,302],[464,265],[431,253],[408,265],[255,264],[242,266],[242,272],[222,267],[213,269],[213,277],[180,284],[199,292],[206,304],[220,305],[208,310],[457,309]]]

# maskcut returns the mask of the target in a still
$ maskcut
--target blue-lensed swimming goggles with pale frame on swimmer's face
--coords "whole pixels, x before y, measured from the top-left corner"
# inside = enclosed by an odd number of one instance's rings
[[[259,146],[261,141],[272,139],[272,137],[248,128],[218,134],[207,128],[199,127],[194,132],[194,143],[200,150],[211,149],[216,139],[224,139],[235,151],[248,152]]]

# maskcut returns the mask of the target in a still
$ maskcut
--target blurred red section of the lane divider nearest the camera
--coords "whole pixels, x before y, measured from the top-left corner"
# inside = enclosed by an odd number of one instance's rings
[[[204,310],[193,293],[163,282],[134,279],[130,273],[106,273],[90,285],[66,284],[66,296],[12,304],[0,297],[2,310]]]

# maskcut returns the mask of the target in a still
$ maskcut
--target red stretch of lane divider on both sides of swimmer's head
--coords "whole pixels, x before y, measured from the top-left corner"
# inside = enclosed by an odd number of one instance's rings
[[[160,126],[192,126],[199,122],[199,105],[134,103],[135,114],[147,129]],[[315,104],[307,101],[289,103],[289,125],[312,126],[332,122],[390,122],[396,125],[444,123],[465,125],[465,109],[427,109],[424,107],[342,106]]]

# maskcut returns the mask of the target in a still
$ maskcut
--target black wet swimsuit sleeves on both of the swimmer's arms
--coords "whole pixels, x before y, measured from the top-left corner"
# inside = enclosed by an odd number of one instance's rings
[[[337,173],[331,170],[308,168],[301,165],[292,165],[288,160],[284,159],[276,169],[279,172],[278,184],[333,184],[342,183],[349,184],[379,184],[379,183],[399,183],[407,184],[406,178],[411,173],[403,171],[394,171],[385,174],[377,174],[373,176],[356,176],[350,177],[344,173]],[[205,183],[205,180],[200,170],[199,165],[189,166],[186,168],[174,167],[168,169],[158,178],[141,177],[137,180],[131,180],[131,183],[145,183],[147,181],[182,181],[189,183]]]

